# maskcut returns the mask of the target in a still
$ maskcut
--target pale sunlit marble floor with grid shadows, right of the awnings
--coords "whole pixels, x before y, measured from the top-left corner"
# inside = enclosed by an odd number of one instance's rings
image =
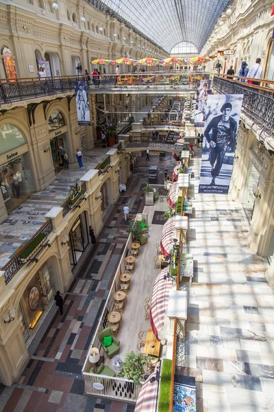
[[[250,251],[248,222],[229,195],[198,194],[201,150],[192,159],[186,341],[178,372],[196,377],[198,412],[274,411],[274,290],[264,258]]]

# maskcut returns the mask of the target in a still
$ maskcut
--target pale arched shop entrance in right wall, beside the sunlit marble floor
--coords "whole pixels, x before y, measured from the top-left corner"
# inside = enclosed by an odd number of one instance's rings
[[[253,187],[258,187],[260,174],[256,170],[255,166],[249,161],[249,168],[247,172],[247,180],[245,181],[245,192],[242,198],[242,207],[245,210],[245,214],[249,221],[252,220],[253,209],[255,205],[256,198],[253,194]]]

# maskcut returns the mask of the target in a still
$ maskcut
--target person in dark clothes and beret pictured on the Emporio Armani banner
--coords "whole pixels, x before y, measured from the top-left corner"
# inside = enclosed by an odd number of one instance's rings
[[[230,117],[232,104],[229,102],[223,104],[221,112],[222,115],[213,117],[204,133],[210,144],[210,164],[212,165],[210,185],[215,185],[215,179],[221,171],[225,153],[234,148],[237,137],[237,123],[233,117]]]

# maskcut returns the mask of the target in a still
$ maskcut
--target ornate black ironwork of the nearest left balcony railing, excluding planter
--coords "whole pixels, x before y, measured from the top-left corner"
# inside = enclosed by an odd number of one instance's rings
[[[52,221],[51,219],[49,219],[44,223],[44,225],[42,225],[42,227],[40,227],[38,231],[36,231],[36,233],[34,233],[34,236],[32,236],[32,238],[30,238],[23,246],[17,249],[9,262],[5,264],[5,266],[3,266],[3,268],[1,269],[5,272],[4,279],[6,285],[12,280],[14,275],[16,275],[18,271],[20,271],[24,264],[27,263],[27,260],[21,258],[21,254],[25,251],[25,249],[31,246],[32,242],[36,242],[36,238],[38,238],[38,236],[40,236],[40,234],[42,233],[44,235],[44,238],[34,248],[34,251],[36,251],[38,247],[42,247],[42,244],[47,241],[47,237],[52,231]],[[34,253],[34,251],[32,252],[32,254]]]

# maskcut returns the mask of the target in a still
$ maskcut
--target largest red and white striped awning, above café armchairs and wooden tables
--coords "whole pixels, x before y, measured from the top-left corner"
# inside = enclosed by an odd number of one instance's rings
[[[169,291],[172,288],[171,280],[168,277],[164,279],[164,276],[167,276],[168,273],[169,268],[165,268],[159,273],[155,279],[151,295],[150,323],[158,341],[160,341],[158,333],[164,329],[164,318],[169,304]]]

